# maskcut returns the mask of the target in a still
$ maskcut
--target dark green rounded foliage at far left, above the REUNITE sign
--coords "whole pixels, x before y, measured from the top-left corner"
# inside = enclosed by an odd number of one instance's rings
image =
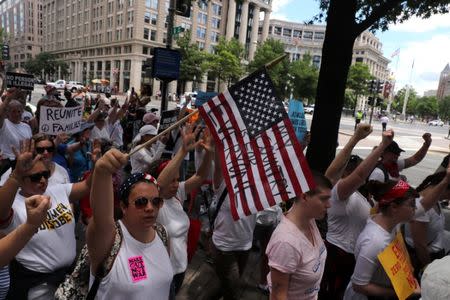
[[[42,75],[42,71],[44,75],[53,76],[58,72],[58,68],[60,68],[62,76],[69,73],[67,63],[58,60],[54,54],[48,52],[41,52],[35,58],[31,58],[25,62],[27,72],[38,77]]]

